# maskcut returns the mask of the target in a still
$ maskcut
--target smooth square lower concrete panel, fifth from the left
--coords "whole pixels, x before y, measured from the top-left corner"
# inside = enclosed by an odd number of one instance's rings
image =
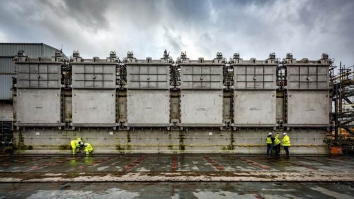
[[[275,91],[234,91],[235,126],[275,126]]]

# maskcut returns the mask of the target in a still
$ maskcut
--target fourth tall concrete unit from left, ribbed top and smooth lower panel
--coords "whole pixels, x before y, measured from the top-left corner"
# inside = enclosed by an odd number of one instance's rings
[[[181,53],[180,120],[182,127],[222,127],[223,68],[221,53],[214,60],[190,60]]]

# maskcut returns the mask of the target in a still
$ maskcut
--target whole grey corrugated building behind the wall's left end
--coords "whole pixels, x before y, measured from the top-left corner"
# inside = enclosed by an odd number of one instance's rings
[[[16,68],[13,62],[18,50],[30,57],[50,58],[57,48],[43,43],[0,43],[0,140],[1,148],[9,147],[13,138],[13,83]],[[65,56],[65,55],[64,55]]]

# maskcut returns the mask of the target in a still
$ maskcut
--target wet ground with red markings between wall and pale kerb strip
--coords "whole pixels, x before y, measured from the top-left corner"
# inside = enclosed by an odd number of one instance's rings
[[[0,156],[0,173],[96,171],[323,171],[352,172],[352,156]]]

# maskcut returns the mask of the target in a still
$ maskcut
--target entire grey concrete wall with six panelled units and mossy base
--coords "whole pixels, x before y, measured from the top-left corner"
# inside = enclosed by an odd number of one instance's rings
[[[19,53],[17,76],[29,78],[16,84],[17,152],[70,152],[80,137],[94,153],[264,153],[268,132],[286,131],[291,153],[327,153],[330,65],[326,54],[193,61],[182,52],[175,63],[167,51],[122,62],[114,52],[51,61]]]

